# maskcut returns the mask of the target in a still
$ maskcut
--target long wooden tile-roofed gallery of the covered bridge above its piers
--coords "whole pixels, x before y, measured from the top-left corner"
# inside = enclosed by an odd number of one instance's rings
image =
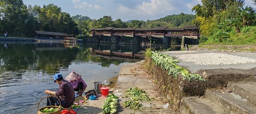
[[[168,27],[155,27],[152,29],[142,28],[115,28],[106,27],[91,29],[92,35],[104,35],[104,36],[152,36],[152,37],[184,37],[198,39],[199,28],[196,26],[185,26],[182,29],[171,29]]]

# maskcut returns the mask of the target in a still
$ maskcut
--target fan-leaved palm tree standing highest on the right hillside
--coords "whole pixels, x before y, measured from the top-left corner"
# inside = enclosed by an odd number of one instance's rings
[[[251,25],[252,21],[255,19],[255,11],[252,9],[252,7],[246,6],[245,8],[238,8],[236,10],[239,13],[239,18],[243,22],[243,25]]]

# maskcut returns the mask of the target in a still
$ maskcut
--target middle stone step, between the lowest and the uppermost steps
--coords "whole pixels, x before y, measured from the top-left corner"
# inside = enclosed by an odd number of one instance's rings
[[[207,90],[205,97],[227,114],[256,114],[256,106],[234,93]]]

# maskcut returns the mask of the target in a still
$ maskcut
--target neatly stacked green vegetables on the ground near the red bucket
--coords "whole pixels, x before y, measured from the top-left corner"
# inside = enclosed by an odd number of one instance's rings
[[[113,93],[107,96],[107,99],[104,101],[102,113],[103,114],[115,114],[117,112],[117,103],[118,97]]]

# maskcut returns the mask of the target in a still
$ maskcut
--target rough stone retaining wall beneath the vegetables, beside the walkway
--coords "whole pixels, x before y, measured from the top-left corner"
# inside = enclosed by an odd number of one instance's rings
[[[183,79],[182,75],[178,75],[178,79],[175,79],[148,58],[145,59],[144,67],[150,77],[154,79],[162,99],[166,100],[170,104],[170,108],[176,111],[180,108],[182,97],[204,95],[206,87],[202,81],[192,80],[189,82],[187,79]]]

